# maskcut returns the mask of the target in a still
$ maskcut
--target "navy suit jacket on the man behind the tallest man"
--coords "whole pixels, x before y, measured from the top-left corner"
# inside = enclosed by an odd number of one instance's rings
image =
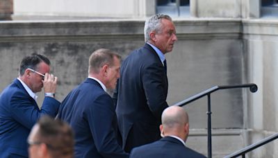
[[[87,78],[60,105],[58,118],[75,134],[75,157],[128,157],[117,143],[113,100],[96,80]]]

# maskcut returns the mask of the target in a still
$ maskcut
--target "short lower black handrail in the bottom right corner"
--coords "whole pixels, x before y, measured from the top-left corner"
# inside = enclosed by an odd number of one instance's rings
[[[278,138],[278,133],[277,134],[272,134],[270,137],[266,137],[265,139],[263,139],[261,141],[253,143],[252,145],[247,146],[247,147],[245,147],[245,148],[243,148],[241,150],[238,150],[236,152],[233,152],[233,153],[231,153],[230,155],[227,155],[224,158],[239,157],[240,155],[242,157],[245,157],[245,154],[247,152],[250,152],[250,151],[252,151],[252,150],[254,150],[256,148],[259,148],[260,146],[265,145],[265,143],[269,143],[270,141],[274,141],[277,138]]]

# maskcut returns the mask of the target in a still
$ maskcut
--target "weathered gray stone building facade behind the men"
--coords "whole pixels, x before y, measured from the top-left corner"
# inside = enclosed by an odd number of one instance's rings
[[[15,20],[0,22],[0,91],[17,77],[20,60],[37,52],[51,59],[59,100],[88,76],[92,51],[108,48],[126,57],[144,44],[146,17],[161,12],[155,0],[13,3]],[[255,83],[259,88],[254,94],[248,89],[211,94],[213,157],[278,132],[278,15],[263,3],[190,0],[181,6],[184,15],[166,12],[179,39],[166,54],[170,105],[215,85]],[[187,144],[206,155],[207,98],[184,108],[190,117]],[[277,146],[273,141],[247,156],[278,157]]]

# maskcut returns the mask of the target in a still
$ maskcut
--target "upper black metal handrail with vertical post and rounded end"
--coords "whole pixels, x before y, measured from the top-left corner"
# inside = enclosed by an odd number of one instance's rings
[[[250,84],[242,84],[242,85],[222,85],[222,86],[215,86],[211,87],[210,89],[207,89],[205,91],[202,91],[199,94],[196,94],[195,96],[191,96],[190,98],[187,98],[186,100],[183,100],[175,105],[177,106],[183,106],[188,103],[191,103],[199,98],[202,98],[203,96],[208,96],[208,111],[206,114],[208,115],[208,158],[211,158],[211,93],[214,91],[218,91],[220,89],[234,89],[234,88],[250,88],[250,91],[252,93],[256,92],[258,90],[258,87],[254,83]]]

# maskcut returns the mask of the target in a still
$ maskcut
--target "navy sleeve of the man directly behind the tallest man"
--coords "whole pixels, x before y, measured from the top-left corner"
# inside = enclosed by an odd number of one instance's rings
[[[98,152],[103,157],[129,157],[117,143],[117,119],[111,97],[108,94],[99,96],[87,111],[88,123]]]

